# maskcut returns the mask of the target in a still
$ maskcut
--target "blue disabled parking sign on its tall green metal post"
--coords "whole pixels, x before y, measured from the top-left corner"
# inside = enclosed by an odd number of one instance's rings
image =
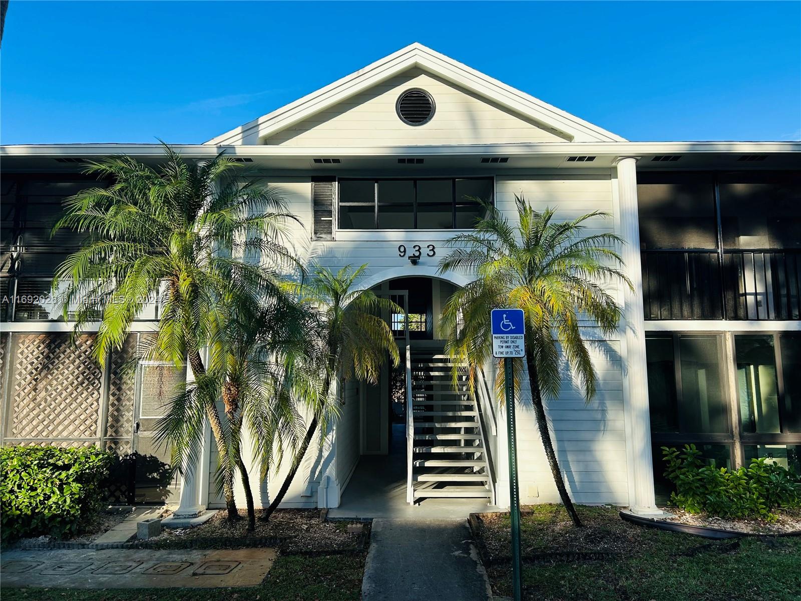
[[[506,433],[509,435],[509,518],[512,525],[512,587],[514,601],[522,597],[520,561],[520,486],[517,482],[517,430],[514,423],[513,357],[525,357],[522,309],[493,309],[490,316],[493,357],[504,360]]]

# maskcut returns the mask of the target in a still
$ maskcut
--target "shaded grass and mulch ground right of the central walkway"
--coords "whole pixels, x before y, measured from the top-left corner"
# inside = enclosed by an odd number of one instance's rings
[[[537,601],[799,601],[801,538],[711,541],[634,526],[618,510],[579,506],[574,528],[562,506],[533,506],[522,520],[524,599]],[[485,521],[493,591],[511,595],[509,518]],[[550,558],[594,552],[607,559]]]

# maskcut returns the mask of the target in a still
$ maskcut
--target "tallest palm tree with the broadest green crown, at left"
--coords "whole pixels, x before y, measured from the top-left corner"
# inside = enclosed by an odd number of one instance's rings
[[[237,257],[292,263],[280,240],[294,217],[278,191],[242,179],[239,163],[222,154],[195,163],[166,144],[164,153],[159,167],[126,155],[87,163],[85,172],[107,185],[65,201],[54,230],[86,232],[87,241],[57,268],[53,290],[65,319],[74,310],[75,332],[100,321],[94,353],[101,365],[123,345],[148,299],[158,297],[159,329],[149,353],[175,365],[188,360],[202,378],[201,349],[221,331],[231,305],[255,305],[280,289],[274,270]],[[221,461],[232,465],[215,403],[207,399],[203,412]],[[232,471],[221,478],[228,516],[238,518]]]

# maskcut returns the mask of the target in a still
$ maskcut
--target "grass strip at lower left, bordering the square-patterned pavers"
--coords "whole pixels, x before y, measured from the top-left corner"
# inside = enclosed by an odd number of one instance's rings
[[[351,601],[361,597],[364,553],[280,555],[267,578],[249,588],[3,588],[3,601]]]

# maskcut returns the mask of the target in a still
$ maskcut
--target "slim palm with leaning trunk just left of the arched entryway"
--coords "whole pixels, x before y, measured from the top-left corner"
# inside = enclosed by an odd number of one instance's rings
[[[339,413],[338,403],[330,394],[332,381],[336,377],[340,377],[342,382],[356,377],[360,381],[376,383],[387,355],[392,365],[398,365],[400,361],[392,329],[380,313],[403,313],[403,309],[370,290],[354,289],[356,280],[366,271],[366,264],[356,269],[346,265],[336,273],[318,266],[312,269],[310,279],[296,288],[300,303],[313,307],[317,313],[315,338],[320,344],[318,357],[322,358],[322,365],[319,365],[322,385],[319,391],[306,389],[297,395],[308,405],[312,421],[284,483],[262,516],[265,521],[287,494],[317,427],[321,425],[323,431],[327,430],[328,422]]]

